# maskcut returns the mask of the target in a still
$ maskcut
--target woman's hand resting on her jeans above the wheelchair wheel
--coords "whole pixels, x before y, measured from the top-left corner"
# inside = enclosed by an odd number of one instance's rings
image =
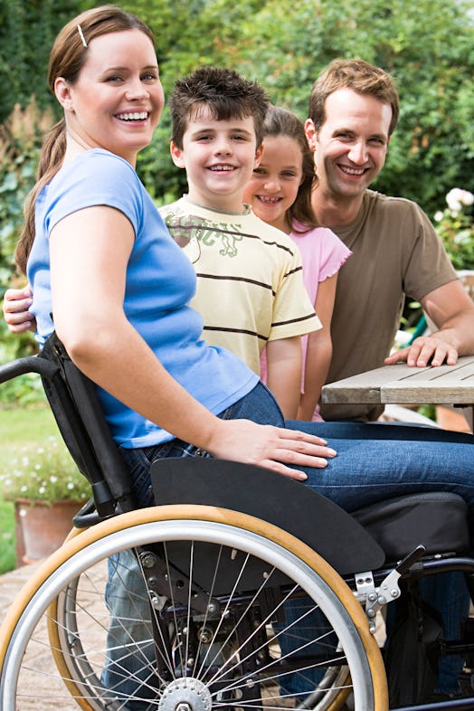
[[[327,467],[336,451],[327,441],[298,430],[285,430],[249,420],[220,420],[206,449],[214,457],[256,464],[304,481],[307,474],[294,467]]]

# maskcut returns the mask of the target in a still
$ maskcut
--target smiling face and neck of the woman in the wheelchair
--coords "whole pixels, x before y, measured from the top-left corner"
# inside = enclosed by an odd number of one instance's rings
[[[135,29],[91,40],[78,80],[59,78],[55,90],[72,140],[106,148],[132,165],[150,142],[165,103],[155,48]]]

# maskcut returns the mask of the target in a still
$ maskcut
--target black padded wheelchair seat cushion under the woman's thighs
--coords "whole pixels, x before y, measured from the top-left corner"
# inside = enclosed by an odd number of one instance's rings
[[[388,560],[400,560],[420,544],[431,555],[469,551],[468,505],[457,494],[406,495],[352,515],[384,548]]]

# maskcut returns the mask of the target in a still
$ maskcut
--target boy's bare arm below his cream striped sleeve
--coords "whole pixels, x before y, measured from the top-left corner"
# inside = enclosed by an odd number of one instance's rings
[[[301,337],[269,341],[266,352],[267,384],[285,419],[295,420],[301,390]]]

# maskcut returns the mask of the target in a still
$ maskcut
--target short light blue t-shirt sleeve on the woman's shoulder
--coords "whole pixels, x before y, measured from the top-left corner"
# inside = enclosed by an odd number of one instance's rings
[[[91,150],[71,160],[52,179],[44,226],[49,234],[67,215],[107,205],[125,214],[137,235],[142,202],[141,184],[133,167],[112,153]]]

